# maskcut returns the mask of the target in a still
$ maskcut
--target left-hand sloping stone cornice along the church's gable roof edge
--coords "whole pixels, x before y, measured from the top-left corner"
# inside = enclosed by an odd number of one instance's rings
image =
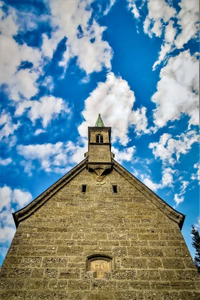
[[[44,192],[42,192],[38,197],[36,197],[29,204],[23,208],[12,213],[16,228],[20,221],[24,220],[30,216],[35,210],[37,210],[41,205],[43,205],[54,193],[56,193],[62,186],[69,182],[75,175],[77,175],[83,168],[86,167],[86,161],[88,157],[83,159],[75,167],[73,167],[68,173],[58,179],[50,187],[48,187]]]

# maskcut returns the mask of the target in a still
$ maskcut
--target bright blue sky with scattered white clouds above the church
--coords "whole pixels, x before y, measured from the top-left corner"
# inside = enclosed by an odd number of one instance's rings
[[[199,227],[197,0],[0,1],[0,226],[80,162],[98,112],[127,170]]]

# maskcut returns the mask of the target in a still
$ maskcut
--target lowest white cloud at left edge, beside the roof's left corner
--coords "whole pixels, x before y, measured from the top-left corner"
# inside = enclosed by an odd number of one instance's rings
[[[23,207],[32,200],[29,191],[14,188],[13,190],[4,185],[0,188],[0,243],[3,244],[4,250],[12,240],[15,233],[12,205],[16,205],[16,209]]]

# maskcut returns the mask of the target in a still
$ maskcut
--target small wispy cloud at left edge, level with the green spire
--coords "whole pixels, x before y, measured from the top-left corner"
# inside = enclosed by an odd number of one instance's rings
[[[17,121],[16,124],[12,123],[10,113],[3,109],[0,114],[0,125],[3,125],[0,129],[0,140],[4,137],[4,142],[7,142],[6,138],[14,133],[14,131],[20,126],[20,122]]]

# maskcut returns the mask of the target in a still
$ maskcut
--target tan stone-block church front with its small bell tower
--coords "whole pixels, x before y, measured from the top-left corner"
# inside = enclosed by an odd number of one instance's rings
[[[184,215],[114,160],[110,134],[99,115],[84,160],[13,213],[0,299],[199,299]]]

